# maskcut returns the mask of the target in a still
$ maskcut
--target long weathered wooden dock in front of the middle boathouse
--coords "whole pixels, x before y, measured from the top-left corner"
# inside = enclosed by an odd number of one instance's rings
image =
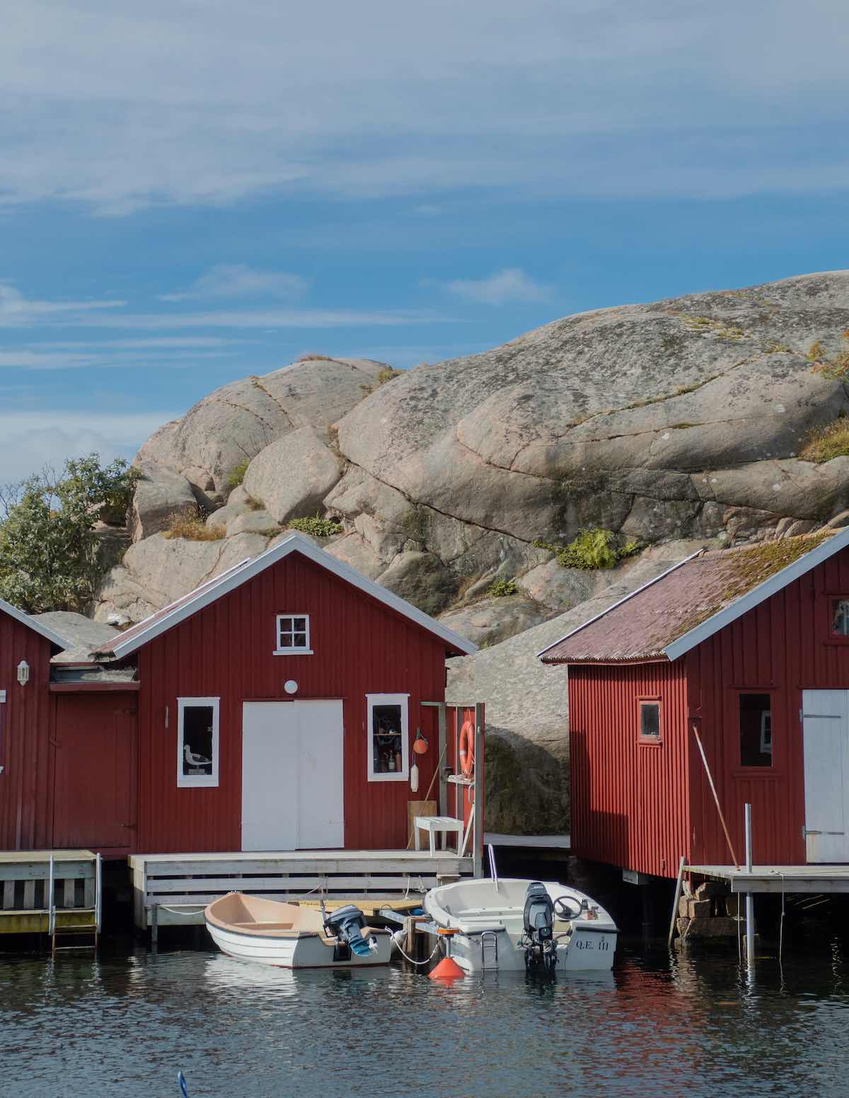
[[[202,926],[203,908],[228,892],[279,900],[324,896],[371,908],[472,876],[473,859],[426,850],[295,850],[261,853],[131,854],[139,930]]]

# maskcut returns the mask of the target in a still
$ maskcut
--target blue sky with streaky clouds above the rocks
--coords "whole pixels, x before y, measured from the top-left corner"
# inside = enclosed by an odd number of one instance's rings
[[[8,3],[0,483],[310,351],[849,266],[842,0],[301,7]]]

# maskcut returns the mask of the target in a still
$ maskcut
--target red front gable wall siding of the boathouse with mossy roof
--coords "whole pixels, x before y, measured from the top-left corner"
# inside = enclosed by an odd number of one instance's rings
[[[689,652],[691,707],[738,858],[744,856],[744,805],[751,804],[756,862],[804,864],[805,780],[803,690],[849,688],[849,647],[829,636],[830,597],[849,594],[849,550],[812,569],[759,607]],[[739,765],[737,696],[764,690],[772,698],[773,765]],[[701,706],[701,707],[700,707]],[[701,760],[692,765],[694,861],[730,855]]]

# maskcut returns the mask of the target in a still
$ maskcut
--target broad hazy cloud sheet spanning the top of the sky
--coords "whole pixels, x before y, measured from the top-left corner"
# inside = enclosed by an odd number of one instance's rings
[[[0,202],[838,189],[845,42],[845,0],[27,0]]]

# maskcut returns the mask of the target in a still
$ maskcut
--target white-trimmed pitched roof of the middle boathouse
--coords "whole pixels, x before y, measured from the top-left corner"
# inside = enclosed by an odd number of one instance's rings
[[[358,587],[367,595],[371,595],[372,598],[377,598],[384,606],[403,615],[403,617],[409,618],[411,621],[415,621],[423,629],[427,629],[428,632],[444,640],[446,646],[454,652],[471,656],[472,652],[478,651],[477,645],[472,645],[471,641],[460,637],[459,634],[442,625],[435,618],[432,618],[411,603],[399,597],[399,595],[387,590],[387,587],[381,587],[378,583],[366,579],[365,575],[361,575],[349,564],[332,557],[324,549],[320,549],[309,538],[292,531],[271,549],[266,549],[264,553],[260,553],[253,560],[243,560],[226,572],[222,572],[221,575],[216,575],[214,579],[201,584],[194,591],[189,592],[188,595],[183,595],[182,598],[178,598],[169,606],[145,618],[144,621],[139,621],[138,625],[134,625],[132,628],[120,634],[114,642],[101,645],[91,654],[101,659],[122,659],[125,656],[130,656],[131,652],[141,648],[142,645],[146,645],[149,640],[153,640],[154,637],[158,637],[167,629],[186,620],[192,614],[197,614],[198,610],[214,603],[222,595],[228,594],[243,583],[252,580],[255,575],[264,572],[267,568],[283,560],[290,552],[300,552],[328,572]]]

